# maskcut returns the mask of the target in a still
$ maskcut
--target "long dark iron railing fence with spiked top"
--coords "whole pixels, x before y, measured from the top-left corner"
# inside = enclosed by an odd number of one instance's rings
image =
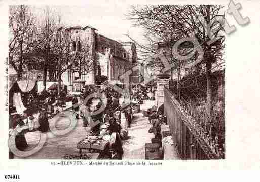
[[[164,97],[164,113],[181,159],[224,159],[225,153],[218,146],[218,138],[212,138],[189,106],[166,87]]]

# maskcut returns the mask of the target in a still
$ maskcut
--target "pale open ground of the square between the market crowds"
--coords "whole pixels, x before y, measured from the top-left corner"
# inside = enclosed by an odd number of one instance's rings
[[[144,101],[141,110],[151,108],[155,101]],[[64,129],[69,126],[69,120],[64,118],[56,123],[58,129]],[[153,133],[148,133],[151,124],[148,118],[144,118],[142,113],[134,114],[132,126],[129,129],[129,139],[123,141],[124,155],[123,159],[144,159],[144,144],[150,143],[154,137]],[[89,127],[82,126],[82,119],[77,121],[77,126],[70,133],[62,136],[47,132],[47,142],[44,147],[29,159],[62,159],[64,155],[76,155],[79,153],[76,145],[83,139],[89,131]],[[29,132],[25,137],[28,143],[28,149],[33,148],[39,141],[41,132]],[[84,151],[83,151],[84,153]],[[15,157],[18,158],[18,157]]]

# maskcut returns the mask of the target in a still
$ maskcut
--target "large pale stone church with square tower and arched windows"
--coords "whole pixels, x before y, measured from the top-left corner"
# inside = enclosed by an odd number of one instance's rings
[[[120,80],[120,75],[131,67],[139,65],[134,42],[118,42],[109,39],[97,33],[97,29],[91,26],[60,27],[58,31],[69,33],[73,51],[80,51],[84,47],[83,44],[87,44],[90,56],[97,59],[95,69],[81,75],[81,78],[75,66],[64,72],[61,76],[64,85],[72,85],[73,81],[78,79],[85,80],[86,84],[94,84],[95,76],[98,74],[106,76],[109,81]],[[141,75],[138,72],[130,75],[130,83],[141,82]]]

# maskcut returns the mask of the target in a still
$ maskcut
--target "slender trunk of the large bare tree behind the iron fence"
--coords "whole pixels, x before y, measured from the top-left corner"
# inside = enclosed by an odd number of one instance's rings
[[[207,72],[206,72],[206,79],[207,79],[207,102],[206,102],[206,112],[208,116],[211,115],[212,112],[212,85],[211,85],[211,62],[206,62]]]

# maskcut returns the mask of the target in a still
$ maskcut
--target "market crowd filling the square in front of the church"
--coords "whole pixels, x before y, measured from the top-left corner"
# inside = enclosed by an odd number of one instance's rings
[[[123,86],[122,86],[123,87]],[[131,100],[149,99],[147,93],[155,92],[155,88],[152,86],[144,87],[141,85],[132,85],[129,88]],[[23,98],[23,102],[26,103],[26,110],[24,114],[17,114],[15,111],[10,112],[10,129],[16,129],[28,125],[28,129],[20,132],[16,138],[15,143],[19,150],[24,150],[27,147],[25,139],[25,133],[29,131],[39,130],[40,132],[47,132],[50,130],[48,119],[53,114],[57,114],[66,105],[66,101],[72,101],[72,104],[78,103],[80,100],[85,100],[92,93],[102,93],[102,98],[92,97],[85,103],[85,108],[90,113],[95,113],[100,110],[102,105],[104,108],[96,115],[91,115],[93,122],[100,121],[99,124],[91,126],[90,133],[100,134],[100,126],[107,123],[107,132],[109,135],[117,133],[118,136],[123,139],[124,131],[127,132],[127,128],[131,127],[132,121],[132,107],[128,105],[125,108],[121,107],[124,103],[124,97],[110,87],[100,88],[100,86],[86,85],[81,89],[80,97],[68,96],[65,90],[57,94],[57,90],[43,90],[41,93],[28,94]],[[79,98],[79,99],[78,99]],[[104,103],[106,100],[106,103]],[[121,102],[122,103],[121,103]],[[61,109],[59,109],[61,108]],[[73,110],[77,113],[77,118],[82,117],[84,127],[90,125],[89,118],[84,116],[84,112],[79,107],[73,107]],[[108,120],[104,120],[105,116],[109,116]],[[123,131],[123,132],[122,132]],[[123,155],[123,151],[118,150],[117,147],[111,148],[111,158],[119,159]]]

